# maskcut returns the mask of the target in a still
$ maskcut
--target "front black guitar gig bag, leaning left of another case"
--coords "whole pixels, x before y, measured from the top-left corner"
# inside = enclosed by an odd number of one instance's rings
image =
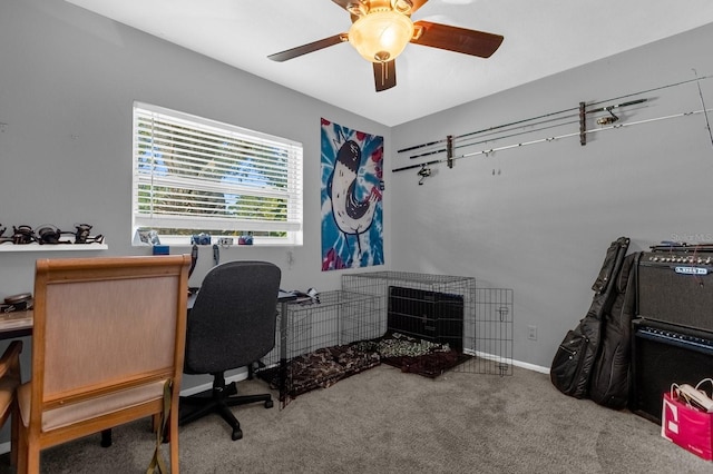
[[[622,269],[629,239],[619,237],[609,245],[602,269],[592,289],[589,310],[574,329],[565,335],[555,353],[549,376],[557,389],[575,398],[589,395],[589,378],[599,354],[604,315],[612,308],[615,282]]]

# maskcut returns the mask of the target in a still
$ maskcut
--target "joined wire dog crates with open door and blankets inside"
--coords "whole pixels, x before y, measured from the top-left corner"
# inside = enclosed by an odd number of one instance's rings
[[[275,347],[256,373],[291,398],[380,363],[436,377],[512,375],[512,290],[471,277],[377,271],[281,305]]]

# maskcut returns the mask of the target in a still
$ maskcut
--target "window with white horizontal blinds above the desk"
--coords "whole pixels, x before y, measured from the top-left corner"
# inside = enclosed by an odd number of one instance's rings
[[[133,181],[135,234],[302,245],[302,144],[135,102]]]

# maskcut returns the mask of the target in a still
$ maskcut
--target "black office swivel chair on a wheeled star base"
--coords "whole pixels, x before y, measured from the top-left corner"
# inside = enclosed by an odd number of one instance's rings
[[[184,373],[213,375],[213,388],[180,397],[179,424],[217,413],[243,437],[231,406],[264,402],[270,394],[237,396],[235,382],[225,385],[225,371],[250,367],[275,346],[280,268],[267,261],[228,261],[204,278],[188,314]]]

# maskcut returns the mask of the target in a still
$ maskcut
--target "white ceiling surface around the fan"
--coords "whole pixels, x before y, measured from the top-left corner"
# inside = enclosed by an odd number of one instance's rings
[[[397,87],[375,92],[349,43],[267,59],[346,32],[350,16],[331,0],[67,1],[387,126],[713,22],[711,0],[430,0],[414,21],[502,34],[502,46],[482,59],[408,45]]]

